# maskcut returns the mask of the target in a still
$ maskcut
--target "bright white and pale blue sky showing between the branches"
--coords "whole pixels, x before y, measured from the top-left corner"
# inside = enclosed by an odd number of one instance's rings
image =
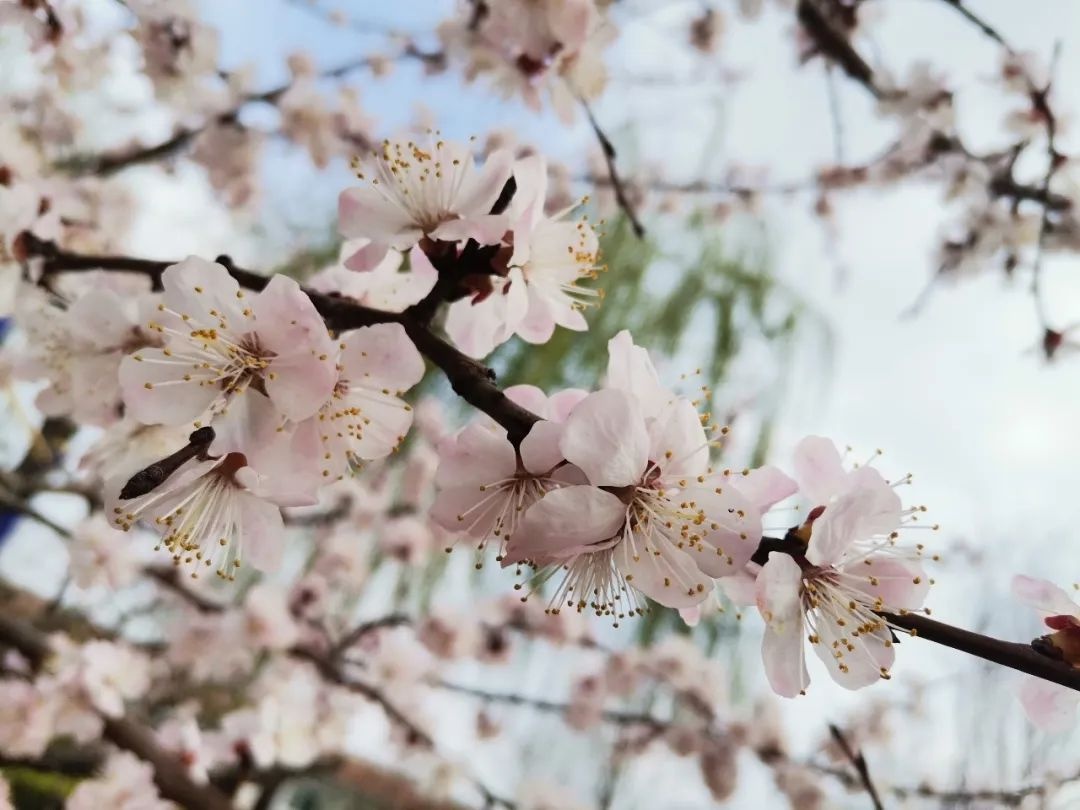
[[[627,22],[609,55],[616,78],[596,111],[615,134],[627,172],[649,166],[667,177],[694,179],[742,162],[767,164],[771,179],[784,180],[806,177],[834,160],[837,147],[827,80],[820,64],[802,68],[795,64],[788,16],[770,10],[753,25],[730,22],[723,35],[720,62],[745,78],[717,89],[712,70],[719,68],[703,68],[675,46],[699,3],[626,0],[622,5]],[[881,15],[873,36],[878,57],[901,76],[916,59],[932,58],[959,89],[964,136],[980,147],[1001,143],[1007,110],[988,82],[998,66],[999,52],[993,43],[944,2],[882,0],[874,5]],[[1080,76],[1080,38],[1067,36],[1080,31],[1080,3],[971,0],[970,5],[1004,31],[1017,50],[1049,56],[1062,39],[1056,107],[1080,110],[1080,82],[1072,80]],[[282,55],[292,50],[308,50],[321,67],[330,67],[357,52],[384,49],[381,33],[335,29],[282,0],[260,2],[257,14],[252,13],[249,0],[207,0],[201,8],[222,31],[225,66],[254,64],[258,86],[273,86],[286,78]],[[376,26],[427,31],[431,21],[451,11],[453,3],[342,2],[339,8]],[[421,42],[434,44],[431,39]],[[422,107],[451,137],[510,129],[521,140],[542,145],[551,157],[577,166],[594,148],[583,122],[563,127],[550,116],[535,116],[488,93],[461,92],[453,75],[423,81],[419,71],[416,65],[402,65],[389,80],[357,80],[380,134],[393,134],[415,120]],[[662,81],[645,83],[633,77]],[[873,156],[888,143],[891,126],[876,118],[860,87],[838,81],[837,96],[845,159],[858,162]],[[149,121],[145,126],[146,132],[160,134],[167,132],[168,122]],[[1076,152],[1078,146],[1075,127],[1066,127],[1061,148]],[[271,156],[272,215],[270,225],[259,231],[224,212],[207,216],[207,206],[214,210],[216,203],[197,173],[181,171],[167,180],[150,172],[131,173],[131,183],[152,188],[135,222],[132,252],[166,257],[228,252],[240,261],[266,264],[297,227],[325,234],[336,192],[348,183],[343,164],[333,165],[312,183],[306,161],[273,151]],[[934,616],[964,626],[976,626],[989,617],[991,632],[1015,638],[1037,634],[1034,617],[1010,604],[1008,583],[1016,572],[1065,585],[1080,580],[1080,515],[1074,505],[1080,491],[1080,357],[1047,365],[1030,351],[1040,333],[1023,274],[1010,281],[990,269],[941,285],[916,314],[905,314],[931,275],[934,240],[949,215],[939,190],[912,184],[888,192],[872,189],[836,197],[840,237],[835,246],[811,215],[811,203],[796,195],[769,199],[764,206],[778,275],[812,302],[835,337],[835,354],[827,366],[820,352],[798,354],[795,384],[786,389],[781,403],[774,460],[785,461],[808,433],[850,444],[860,458],[881,448],[879,469],[890,477],[913,473],[915,485],[905,491],[905,500],[909,496],[928,504],[931,521],[942,525],[931,538],[946,549],[934,573],[937,585],[930,599]],[[650,216],[646,212],[647,227]],[[161,222],[170,227],[162,228]],[[658,230],[663,232],[662,227]],[[1047,301],[1052,318],[1062,324],[1080,321],[1078,269],[1076,257],[1047,260]],[[975,557],[983,559],[977,568]],[[9,555],[3,562],[5,567],[21,568],[28,558]],[[744,647],[748,658],[756,654],[753,644]],[[753,662],[747,666],[753,672]],[[811,667],[813,700],[785,707],[796,738],[804,743],[820,735],[823,723],[837,713],[888,699],[879,691],[914,691],[922,684],[944,685],[940,696],[929,700],[930,716],[920,727],[934,727],[934,713],[941,713],[937,733],[921,741],[923,751],[933,754],[924,757],[933,775],[956,775],[966,756],[957,741],[971,733],[974,721],[977,730],[991,734],[994,730],[1025,733],[1009,694],[1009,676],[996,676],[988,687],[991,691],[982,691],[972,685],[972,662],[929,643],[905,642],[893,681],[869,690],[874,692],[869,697],[848,693],[821,667]],[[542,673],[535,671],[529,683],[539,688]],[[994,720],[980,717],[988,696],[994,696],[995,712],[1001,715]],[[448,711],[448,725],[463,723]],[[1075,766],[1067,741],[1038,745],[1044,762]],[[485,756],[477,768],[498,778],[507,764],[498,755]],[[673,759],[658,756],[629,773],[623,792],[629,797],[635,785],[649,786],[666,797],[663,807],[694,807],[700,797],[678,786],[687,782],[687,774],[685,765]],[[973,779],[993,784],[995,779],[1015,781],[1023,765],[1009,761],[1002,769],[1000,761],[987,759],[983,766],[964,767]],[[753,800],[752,793],[741,796],[733,806]],[[616,804],[634,806],[632,798]]]

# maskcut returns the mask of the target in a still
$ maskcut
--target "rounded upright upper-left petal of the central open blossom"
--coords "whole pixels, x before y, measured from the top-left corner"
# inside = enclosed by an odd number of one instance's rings
[[[566,420],[559,446],[596,486],[637,484],[649,460],[645,419],[622,391],[597,391],[582,400]]]

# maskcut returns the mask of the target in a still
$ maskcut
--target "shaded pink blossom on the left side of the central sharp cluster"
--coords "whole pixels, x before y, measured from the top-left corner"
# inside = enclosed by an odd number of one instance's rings
[[[585,392],[570,389],[549,399],[532,386],[515,386],[507,395],[544,417],[517,450],[490,420],[474,422],[438,446],[438,495],[431,517],[449,531],[478,540],[481,548],[491,537],[504,545],[529,507],[573,481],[571,470],[561,469],[566,465],[558,440],[562,422]]]

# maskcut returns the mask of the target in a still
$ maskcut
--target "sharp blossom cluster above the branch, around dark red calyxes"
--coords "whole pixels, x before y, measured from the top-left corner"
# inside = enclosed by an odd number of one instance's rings
[[[356,161],[356,174],[365,185],[342,191],[338,203],[339,229],[350,240],[342,264],[373,278],[338,272],[324,288],[400,309],[445,276],[456,301],[446,330],[474,357],[514,335],[543,343],[556,326],[586,328],[582,310],[600,291],[580,282],[602,269],[598,239],[588,221],[569,218],[576,206],[545,212],[542,158],[515,161],[500,149],[477,167],[467,146],[433,134],[428,144],[383,141]],[[406,251],[409,272],[396,272]]]

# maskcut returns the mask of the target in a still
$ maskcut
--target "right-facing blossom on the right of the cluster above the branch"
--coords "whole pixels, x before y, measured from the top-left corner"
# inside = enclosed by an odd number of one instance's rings
[[[595,279],[600,269],[596,232],[584,220],[565,219],[569,213],[544,215],[546,162],[539,157],[514,164],[517,190],[509,216],[513,253],[504,279],[495,289],[451,305],[446,332],[467,354],[486,356],[513,335],[530,343],[545,343],[563,326],[588,327],[581,311],[597,305],[603,291],[578,284]]]

